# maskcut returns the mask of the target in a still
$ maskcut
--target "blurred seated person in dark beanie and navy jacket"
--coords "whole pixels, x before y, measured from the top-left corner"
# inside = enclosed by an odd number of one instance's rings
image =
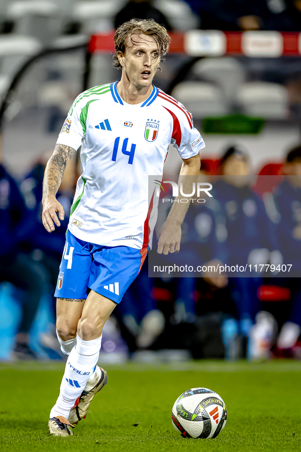
[[[248,264],[249,271],[250,264],[254,269],[254,264],[268,262],[269,250],[272,251],[275,247],[270,238],[272,225],[263,201],[250,187],[251,165],[247,151],[240,146],[228,148],[220,159],[218,171],[224,177],[214,183],[214,196],[223,206],[225,214],[225,263],[230,267],[238,265],[243,268]],[[236,347],[236,354],[240,352],[234,338],[241,336],[243,347],[247,345],[250,330],[260,308],[257,290],[262,276],[256,275],[253,270],[251,274],[252,277],[240,277],[239,273],[235,276],[229,273],[230,297],[236,305],[237,322],[229,318],[222,328],[225,343],[229,344],[230,349]],[[250,358],[257,353],[259,352],[254,347],[249,347]],[[229,354],[235,355],[233,351],[229,351]]]

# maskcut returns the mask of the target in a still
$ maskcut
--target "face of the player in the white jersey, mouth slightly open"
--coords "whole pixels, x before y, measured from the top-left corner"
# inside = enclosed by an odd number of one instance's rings
[[[152,36],[132,35],[119,61],[131,84],[137,88],[148,87],[160,63],[158,43]]]

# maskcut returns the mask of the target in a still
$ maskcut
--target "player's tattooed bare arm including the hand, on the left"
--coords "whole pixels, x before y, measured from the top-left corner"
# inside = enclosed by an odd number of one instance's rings
[[[53,222],[57,226],[61,225],[57,212],[59,213],[60,219],[64,220],[65,212],[62,204],[57,200],[56,194],[61,185],[66,165],[74,153],[75,149],[70,146],[57,144],[45,168],[42,221],[48,232],[54,231]]]

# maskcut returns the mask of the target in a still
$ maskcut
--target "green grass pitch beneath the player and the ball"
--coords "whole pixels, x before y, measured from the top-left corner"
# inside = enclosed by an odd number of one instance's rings
[[[301,451],[301,363],[109,365],[108,384],[74,436],[53,438],[47,421],[63,369],[61,363],[0,364],[1,450]],[[216,439],[184,439],[172,426],[176,398],[196,386],[215,390],[226,403],[228,421]]]

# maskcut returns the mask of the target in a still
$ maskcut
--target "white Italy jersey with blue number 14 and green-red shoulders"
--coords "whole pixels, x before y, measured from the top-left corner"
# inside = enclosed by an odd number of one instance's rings
[[[91,88],[74,101],[57,143],[77,150],[84,172],[76,185],[68,229],[103,246],[147,246],[155,219],[148,176],[162,175],[168,147],[182,158],[205,146],[192,116],[153,87],[142,103],[126,103],[117,83]],[[157,185],[154,183],[153,193]]]

